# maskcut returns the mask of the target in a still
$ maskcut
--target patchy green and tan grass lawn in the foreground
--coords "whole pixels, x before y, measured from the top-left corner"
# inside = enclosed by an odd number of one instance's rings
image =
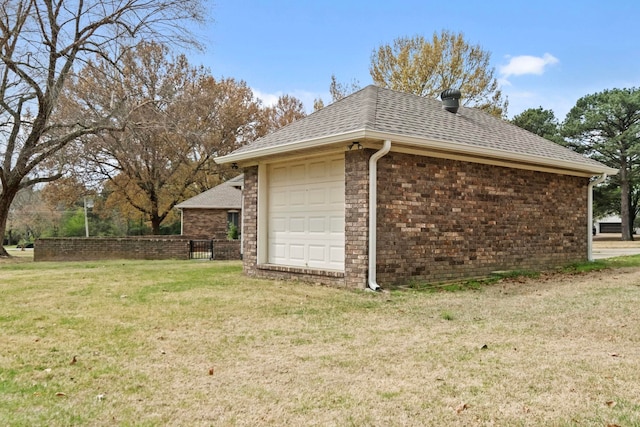
[[[640,426],[640,256],[618,260],[383,293],[0,260],[0,425]]]

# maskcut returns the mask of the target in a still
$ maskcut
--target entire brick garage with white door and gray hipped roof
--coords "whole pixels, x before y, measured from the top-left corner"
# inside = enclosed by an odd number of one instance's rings
[[[446,92],[368,86],[216,159],[244,170],[245,273],[377,289],[589,259],[617,171]]]

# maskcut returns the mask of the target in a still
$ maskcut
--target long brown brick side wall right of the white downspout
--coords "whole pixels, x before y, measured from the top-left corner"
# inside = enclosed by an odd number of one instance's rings
[[[378,167],[380,284],[586,260],[587,178],[400,153]]]

